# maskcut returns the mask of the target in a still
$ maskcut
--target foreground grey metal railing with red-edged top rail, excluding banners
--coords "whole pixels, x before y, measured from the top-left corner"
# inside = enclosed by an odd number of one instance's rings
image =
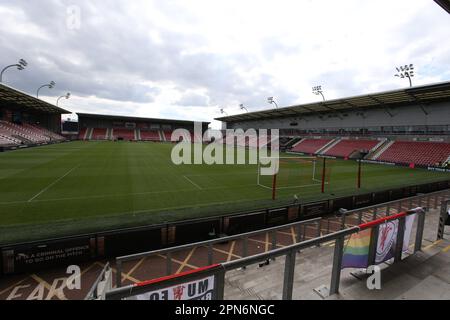
[[[266,261],[269,259],[275,259],[278,257],[285,257],[285,265],[284,265],[284,274],[283,274],[283,289],[282,289],[282,299],[283,300],[292,300],[293,287],[294,287],[294,271],[296,266],[296,255],[301,254],[302,250],[320,246],[321,244],[334,241],[334,253],[333,253],[333,262],[332,262],[332,273],[331,273],[331,282],[329,288],[329,295],[339,293],[339,285],[342,271],[342,261],[343,261],[343,253],[344,253],[344,245],[345,245],[345,237],[357,233],[361,230],[371,228],[375,230],[371,234],[373,239],[378,239],[379,227],[381,224],[385,223],[388,220],[398,220],[398,233],[397,233],[397,241],[394,247],[394,262],[398,262],[402,259],[403,253],[403,237],[405,232],[405,224],[406,217],[411,214],[417,214],[419,217],[418,227],[416,230],[416,247],[414,248],[414,253],[421,250],[422,237],[423,237],[423,227],[425,221],[426,210],[424,208],[417,208],[416,210],[403,212],[401,214],[388,216],[382,219],[378,219],[375,222],[370,222],[366,225],[355,226],[348,229],[343,229],[331,234],[327,234],[324,236],[320,236],[314,239],[306,240],[297,244],[293,244],[291,246],[275,249],[269,252],[257,254],[254,256],[241,258],[239,260],[226,262],[218,265],[212,265],[209,268],[203,268],[199,270],[199,274],[203,277],[209,275],[214,276],[214,300],[224,300],[224,291],[225,291],[225,275],[227,272],[236,270],[239,268],[245,268],[250,265],[255,265],[259,262]],[[419,246],[417,246],[419,244]],[[368,263],[374,264],[375,261],[375,252],[376,252],[377,241],[371,241],[371,248],[368,257]],[[142,294],[147,294],[149,292],[156,292],[159,290],[166,289],[168,287],[179,286],[181,284],[187,284],[192,281],[196,277],[198,278],[198,274],[196,272],[190,272],[185,275],[174,276],[174,277],[166,277],[161,281],[148,281],[140,284],[134,284],[126,287],[121,287],[117,289],[113,289],[111,291],[106,292],[105,299],[106,300],[120,300],[126,298],[136,297]]]

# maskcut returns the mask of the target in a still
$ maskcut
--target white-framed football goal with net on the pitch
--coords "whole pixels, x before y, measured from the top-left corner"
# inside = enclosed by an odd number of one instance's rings
[[[264,175],[263,169],[270,167],[275,158],[261,158],[258,164],[257,184],[263,188],[296,189],[322,184],[323,165],[316,157],[280,157],[279,170],[275,175]],[[276,183],[274,183],[276,176]],[[328,181],[325,183],[328,184]]]

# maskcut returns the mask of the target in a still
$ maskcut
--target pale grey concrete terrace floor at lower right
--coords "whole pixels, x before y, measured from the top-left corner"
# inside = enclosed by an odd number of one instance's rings
[[[324,297],[320,293],[330,284],[332,245],[301,252],[296,260],[293,299],[449,299],[450,228],[446,229],[445,240],[433,241],[438,218],[438,210],[427,215],[422,252],[395,265],[381,265],[381,290],[367,289],[367,277],[349,269],[342,271],[340,294]],[[283,268],[284,259],[279,259],[263,268],[253,266],[227,273],[225,299],[281,299]]]

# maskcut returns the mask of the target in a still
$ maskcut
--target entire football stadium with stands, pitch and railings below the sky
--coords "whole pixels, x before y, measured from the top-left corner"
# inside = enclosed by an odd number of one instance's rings
[[[0,83],[0,299],[448,299],[450,81],[397,71],[409,87],[209,121]]]

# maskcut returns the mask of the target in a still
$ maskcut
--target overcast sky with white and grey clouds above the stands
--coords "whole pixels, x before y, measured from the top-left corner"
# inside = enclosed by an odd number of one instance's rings
[[[75,6],[74,6],[75,5]],[[211,121],[450,80],[450,16],[430,0],[0,0],[4,82],[74,112]],[[218,127],[217,123],[213,127]]]

